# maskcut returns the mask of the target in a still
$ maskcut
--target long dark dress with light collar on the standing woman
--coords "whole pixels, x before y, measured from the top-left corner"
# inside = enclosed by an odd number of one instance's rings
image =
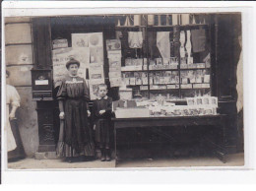
[[[92,130],[88,123],[90,96],[86,81],[80,77],[65,77],[57,97],[64,101],[64,156],[95,156]]]

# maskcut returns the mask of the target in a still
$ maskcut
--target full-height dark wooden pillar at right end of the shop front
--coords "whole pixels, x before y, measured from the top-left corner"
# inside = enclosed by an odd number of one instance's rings
[[[240,14],[222,14],[216,20],[216,87],[220,113],[228,114],[226,148],[228,153],[236,150],[236,67],[240,52],[238,35],[241,33]]]

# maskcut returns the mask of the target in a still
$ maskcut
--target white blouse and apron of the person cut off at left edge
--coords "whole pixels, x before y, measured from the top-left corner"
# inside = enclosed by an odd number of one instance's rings
[[[6,86],[6,135],[7,135],[7,151],[13,151],[16,149],[16,141],[12,132],[12,128],[9,121],[9,107],[20,106],[21,98],[13,86]]]

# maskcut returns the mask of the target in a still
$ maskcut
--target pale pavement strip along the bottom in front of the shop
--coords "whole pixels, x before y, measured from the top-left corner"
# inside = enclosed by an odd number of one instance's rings
[[[227,156],[227,162],[223,163],[214,157],[180,157],[180,158],[160,158],[160,159],[122,159],[116,164],[117,168],[126,167],[190,167],[190,166],[242,166],[244,165],[244,155],[232,154]],[[61,159],[21,159],[9,162],[9,169],[85,169],[85,168],[114,168],[115,160],[83,162],[65,162]]]

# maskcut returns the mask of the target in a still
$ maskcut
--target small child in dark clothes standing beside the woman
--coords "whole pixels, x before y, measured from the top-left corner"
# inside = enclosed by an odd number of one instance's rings
[[[94,101],[93,117],[96,125],[96,142],[101,150],[101,161],[110,161],[110,133],[112,98],[106,96],[107,87],[105,84],[97,86],[97,98]]]

